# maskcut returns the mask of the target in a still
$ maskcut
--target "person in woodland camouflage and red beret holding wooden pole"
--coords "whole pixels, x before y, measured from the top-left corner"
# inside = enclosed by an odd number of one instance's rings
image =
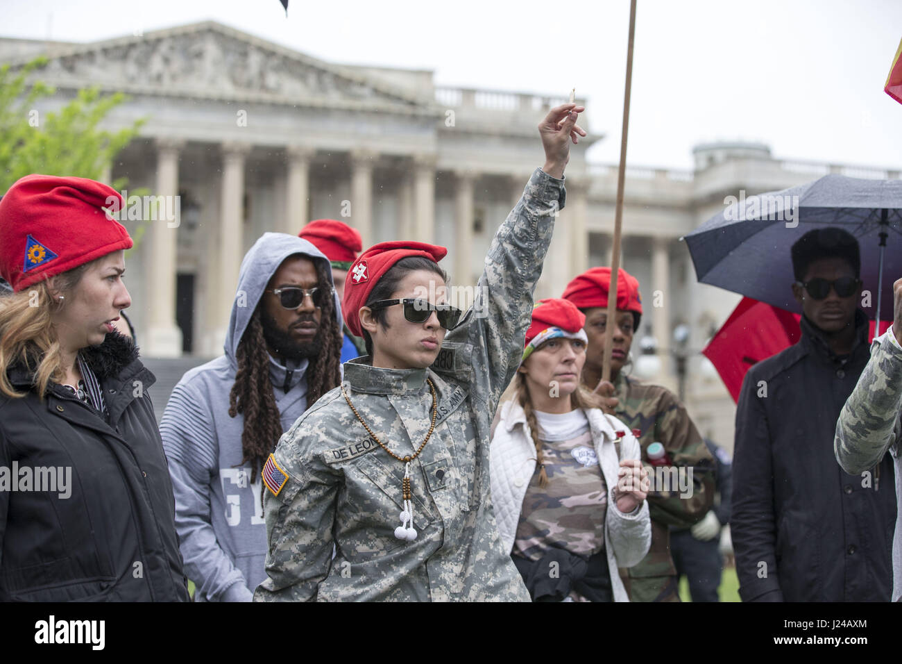
[[[669,464],[693,471],[689,495],[660,491],[652,486],[648,501],[651,514],[651,548],[638,565],[621,569],[630,602],[679,602],[676,567],[670,556],[668,526],[688,528],[704,518],[713,502],[713,457],[683,404],[667,388],[627,376],[632,335],[639,329],[642,300],[639,282],[621,269],[617,279],[617,310],[611,353],[612,383],[601,384],[604,330],[607,323],[610,267],[593,267],[576,276],[566,287],[564,299],[585,314],[589,346],[582,381],[598,390],[607,412],[626,426],[640,431],[643,458],[649,444],[664,445]],[[684,471],[686,472],[686,471]],[[687,472],[686,472],[687,474]]]

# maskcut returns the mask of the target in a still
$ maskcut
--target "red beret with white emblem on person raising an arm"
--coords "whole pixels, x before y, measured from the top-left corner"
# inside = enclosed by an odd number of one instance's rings
[[[355,337],[364,336],[360,327],[360,308],[366,306],[366,298],[370,296],[373,287],[382,278],[389,268],[401,258],[421,256],[437,263],[445,257],[448,250],[426,242],[408,242],[394,240],[392,242],[380,242],[368,248],[360,255],[348,270],[345,281],[345,297],[341,308],[345,313],[347,329]]]

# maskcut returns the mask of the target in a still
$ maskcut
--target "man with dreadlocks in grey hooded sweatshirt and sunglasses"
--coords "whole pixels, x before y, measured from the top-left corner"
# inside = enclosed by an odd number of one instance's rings
[[[283,430],[340,380],[329,261],[265,233],[244,256],[226,354],[191,369],[163,413],[185,573],[200,602],[249,602],[266,573],[261,471]]]

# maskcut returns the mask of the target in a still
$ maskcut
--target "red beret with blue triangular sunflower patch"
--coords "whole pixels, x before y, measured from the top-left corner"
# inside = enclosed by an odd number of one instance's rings
[[[117,249],[132,238],[106,210],[122,196],[86,178],[26,175],[0,199],[0,275],[18,292]]]

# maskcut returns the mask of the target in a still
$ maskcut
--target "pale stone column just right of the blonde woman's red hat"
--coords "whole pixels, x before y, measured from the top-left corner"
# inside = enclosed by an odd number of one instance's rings
[[[159,139],[157,148],[158,196],[179,195],[179,150],[184,142]],[[181,355],[181,330],[175,323],[176,250],[178,228],[164,220],[151,221],[150,260],[147,270],[147,337],[144,354],[174,358]]]

